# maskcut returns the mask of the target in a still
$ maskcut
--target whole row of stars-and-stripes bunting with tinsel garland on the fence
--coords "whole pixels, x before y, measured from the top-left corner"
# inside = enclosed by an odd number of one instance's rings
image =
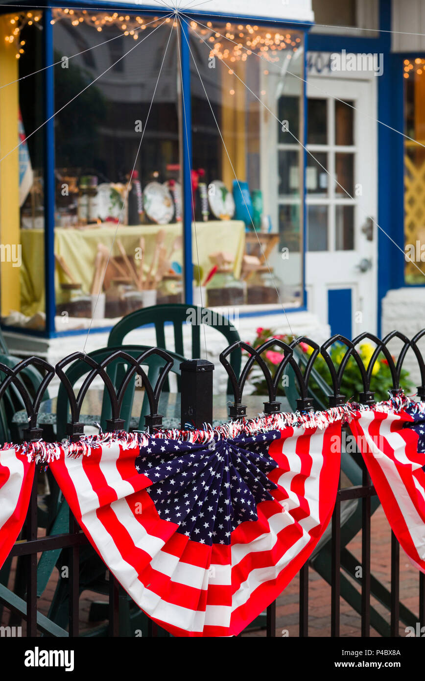
[[[274,414],[0,450],[0,567],[45,462],[139,607],[177,636],[237,635],[279,596],[332,516],[349,422],[387,518],[425,572],[425,405]],[[338,451],[336,452],[335,449]]]

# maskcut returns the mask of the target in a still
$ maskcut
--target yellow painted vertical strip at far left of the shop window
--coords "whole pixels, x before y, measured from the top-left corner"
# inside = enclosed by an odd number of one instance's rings
[[[18,79],[16,46],[5,42],[8,20],[0,17],[0,86]],[[18,144],[18,83],[0,89],[0,158]],[[18,149],[0,163],[0,242],[20,242]],[[13,249],[12,249],[13,252]],[[20,309],[20,268],[0,263],[1,315]]]

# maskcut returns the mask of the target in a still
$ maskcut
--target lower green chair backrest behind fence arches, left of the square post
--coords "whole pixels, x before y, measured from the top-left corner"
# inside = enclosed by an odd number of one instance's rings
[[[130,355],[132,358],[137,359],[142,355],[146,350],[149,350],[150,347],[146,345],[121,345],[120,347],[104,347],[99,350],[95,350],[91,353],[89,353],[87,356],[91,359],[93,359],[95,362],[103,362],[103,360],[106,360],[115,350],[122,350],[123,352],[127,353]],[[174,360],[174,364],[170,371],[177,376],[180,376],[180,362],[184,362],[185,358],[182,355],[178,355],[173,352],[168,352],[170,357]],[[160,358],[158,355],[151,355],[148,357],[146,360],[144,360],[143,366],[148,367],[148,379],[151,382],[151,385],[155,387],[155,383],[157,382],[157,379],[159,377],[159,373],[161,371],[161,368],[164,366],[165,362],[162,358]],[[111,362],[108,365],[108,376],[110,377],[112,384],[114,385],[115,390],[118,390],[118,388],[121,385],[121,381],[123,380],[123,377],[125,375],[125,371],[129,367],[128,362],[125,361],[123,358],[119,358],[117,360],[114,360],[114,362]],[[67,368],[65,374],[67,378],[69,379],[69,382],[71,385],[75,385],[76,382],[82,378],[86,373],[89,373],[91,368],[89,367],[86,362],[83,362],[82,360],[76,360],[73,364]],[[129,423],[130,423],[130,418],[131,418],[131,410],[133,408],[133,400],[134,400],[134,392],[136,388],[136,381],[131,381],[127,387],[127,390],[125,391],[125,395],[123,398],[123,405],[121,407],[121,418],[124,419],[124,430],[129,430]],[[148,414],[149,412],[149,405],[148,405],[148,399],[146,396],[146,393],[144,395],[144,400],[142,404],[142,409],[140,412],[140,418],[139,418],[139,428],[143,429],[144,428],[144,420],[143,417]],[[58,392],[58,397],[57,397],[57,437],[58,439],[62,439],[65,437],[65,432],[66,432],[66,424],[68,422],[68,417],[69,417],[69,400],[67,396],[67,392],[65,390],[65,387],[61,383],[59,386],[59,392]],[[108,396],[108,391],[106,388],[104,389],[104,396],[103,396],[103,402],[102,402],[102,408],[101,408],[101,417],[100,417],[100,426],[102,430],[106,430],[106,420],[111,417],[111,405],[110,405],[110,400]]]

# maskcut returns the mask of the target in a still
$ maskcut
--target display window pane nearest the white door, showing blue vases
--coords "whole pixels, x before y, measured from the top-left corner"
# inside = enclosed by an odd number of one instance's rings
[[[300,304],[302,33],[192,21],[190,48],[207,304]]]

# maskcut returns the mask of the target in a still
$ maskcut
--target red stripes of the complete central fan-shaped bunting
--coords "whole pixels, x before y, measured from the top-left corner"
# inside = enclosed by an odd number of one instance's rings
[[[332,428],[330,430],[332,431]],[[105,476],[99,468],[101,448],[99,447],[98,449],[93,450],[92,456],[83,457],[82,460],[80,460],[80,463],[83,466],[84,473],[89,479],[93,490],[96,491],[97,497],[99,498],[101,508],[97,509],[97,518],[99,518],[108,533],[110,533],[121,556],[136,569],[142,583],[161,597],[166,603],[173,603],[199,612],[204,612],[206,605],[231,605],[232,593],[239,588],[242,582],[246,581],[247,576],[249,576],[252,570],[257,568],[266,570],[275,565],[279,558],[281,558],[281,556],[294,545],[294,542],[298,541],[302,536],[303,530],[298,522],[309,516],[310,513],[309,503],[305,498],[305,484],[306,479],[311,475],[313,456],[315,454],[314,452],[310,452],[311,437],[314,434],[315,429],[310,429],[307,432],[300,430],[299,432],[300,434],[298,435],[296,443],[296,453],[300,456],[302,468],[301,472],[292,479],[292,492],[296,494],[300,504],[300,507],[294,509],[293,513],[293,518],[296,520],[296,523],[290,524],[278,533],[277,541],[271,549],[262,552],[251,551],[238,565],[234,566],[234,569],[232,570],[231,585],[208,584],[208,591],[195,586],[187,586],[173,582],[172,577],[168,577],[165,573],[161,573],[159,569],[153,569],[153,567],[151,567],[150,556],[142,549],[142,545],[138,546],[135,544],[135,539],[131,537],[128,528],[123,526],[123,523],[118,520],[116,514],[110,507],[110,503],[119,498],[121,493],[120,490],[114,490],[106,483]],[[279,477],[289,470],[288,459],[282,452],[282,445],[287,437],[294,437],[293,428],[286,428],[283,430],[281,432],[281,439],[273,441],[270,445],[270,454],[279,465],[279,469],[271,471],[269,475],[270,479],[274,481],[279,480]],[[213,547],[208,547],[208,545],[202,545],[195,541],[191,541],[191,539],[185,535],[176,532],[176,524],[159,518],[153,501],[148,492],[144,490],[147,485],[151,485],[151,481],[144,475],[134,473],[134,462],[138,454],[137,448],[127,450],[121,449],[119,458],[116,461],[116,469],[119,471],[121,477],[129,482],[133,489],[138,490],[134,494],[129,494],[127,496],[129,513],[132,513],[133,518],[138,520],[150,535],[161,537],[163,541],[166,541],[161,552],[168,553],[170,556],[175,556],[180,562],[196,565],[203,569],[208,569],[210,564],[229,565],[229,546],[213,545]],[[289,565],[281,570],[276,579],[269,580],[255,588],[247,603],[241,605],[234,612],[230,629],[227,627],[206,626],[202,633],[191,633],[182,631],[172,624],[170,625],[156,619],[155,621],[171,633],[185,637],[232,635],[238,633],[246,624],[251,622],[251,620],[257,616],[258,612],[261,612],[261,610],[277,596],[279,590],[282,590],[298,572],[300,567],[302,567],[305,560],[311,554],[321,533],[323,533],[326,528],[326,524],[332,513],[334,496],[338,483],[339,465],[337,464],[339,464],[339,461],[337,461],[336,456],[324,456],[324,462],[319,473],[319,486],[326,492],[326,499],[324,500],[324,503],[321,503],[321,500],[319,502],[320,526],[319,528],[313,528],[312,539],[308,541],[301,552],[298,552],[298,555],[291,560]],[[114,465],[114,463],[111,462],[111,465]],[[65,496],[67,496],[69,505],[72,507],[77,519],[81,521],[78,495],[69,479],[63,460],[53,462],[52,470],[63,488]],[[330,481],[323,483],[323,480],[328,474],[331,478]],[[233,543],[240,541],[240,543],[247,545],[252,542],[253,547],[255,548],[255,539],[264,533],[270,532],[269,518],[276,513],[282,513],[282,506],[279,502],[287,498],[287,490],[279,488],[274,490],[272,495],[274,496],[274,501],[264,501],[257,506],[258,520],[256,522],[244,522],[234,530],[234,533],[232,533]],[[320,496],[321,495],[322,492],[320,492]],[[86,528],[85,531],[95,547],[95,543]],[[116,575],[116,577],[120,581],[120,575]],[[125,588],[125,585],[123,586]]]

